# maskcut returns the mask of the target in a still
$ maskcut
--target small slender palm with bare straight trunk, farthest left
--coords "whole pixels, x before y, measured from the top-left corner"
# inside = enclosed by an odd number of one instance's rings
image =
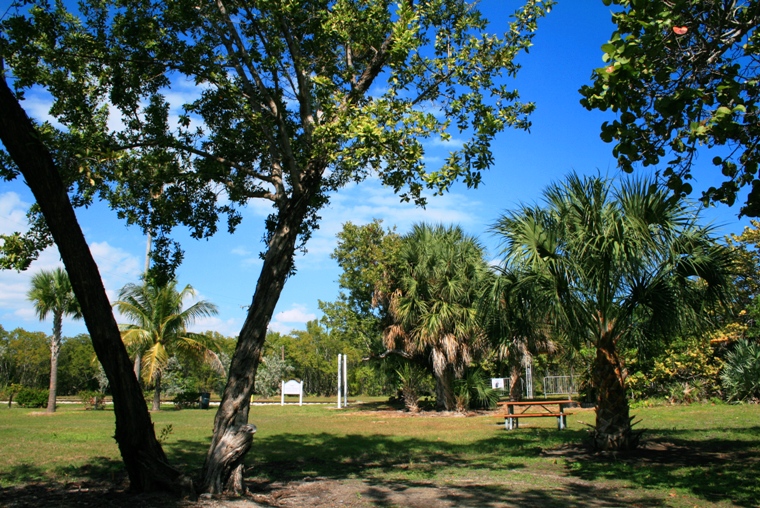
[[[32,289],[27,298],[34,304],[40,321],[53,315],[53,335],[50,338],[50,391],[48,392],[48,413],[55,412],[56,391],[58,389],[58,354],[61,351],[61,329],[63,316],[74,319],[82,317],[79,302],[74,296],[69,276],[63,268],[52,271],[42,270],[32,277]]]

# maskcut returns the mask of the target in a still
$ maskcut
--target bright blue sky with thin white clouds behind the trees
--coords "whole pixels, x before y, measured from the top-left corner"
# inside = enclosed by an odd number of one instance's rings
[[[518,4],[483,0],[480,5],[494,28],[501,29],[508,21],[507,14]],[[307,245],[308,253],[296,261],[298,273],[288,280],[270,329],[287,332],[304,328],[307,320],[319,317],[318,300],[337,297],[340,272],[330,253],[335,235],[346,221],[364,224],[379,218],[401,233],[419,221],[459,224],[478,236],[495,259],[497,241],[488,228],[500,213],[521,202],[539,200],[548,184],[571,171],[617,176],[612,146],[599,139],[601,123],[612,114],[586,111],[578,94],[578,89],[589,82],[592,69],[603,65],[600,47],[612,30],[609,8],[601,0],[560,0],[541,20],[534,46],[521,57],[523,68],[510,83],[519,89],[523,100],[537,104],[531,117],[533,126],[529,133],[507,131],[497,137],[492,147],[495,164],[484,173],[477,190],[456,185],[448,194],[431,198],[424,210],[400,203],[391,189],[372,179],[335,194],[321,214],[323,220]],[[187,87],[179,83],[173,93],[192,93]],[[49,104],[43,95],[28,94],[23,105],[32,116],[47,118]],[[430,146],[429,162],[434,163],[435,154],[443,155],[445,149]],[[720,175],[704,156],[694,176],[694,196],[698,196],[701,190],[717,184]],[[23,229],[31,202],[22,181],[1,183],[0,233]],[[178,231],[185,248],[185,261],[178,272],[180,284],[191,284],[199,298],[215,303],[220,310],[218,316],[197,323],[196,330],[237,335],[261,267],[258,253],[263,248],[263,220],[268,213],[267,204],[252,203],[243,210],[243,223],[234,235],[220,232],[210,240],[192,240]],[[749,224],[747,219],[737,219],[737,214],[738,207],[719,206],[706,210],[704,217],[705,222],[721,225],[721,235],[727,235],[739,233]],[[103,205],[79,210],[78,217],[113,300],[120,287],[138,280],[144,264],[145,237],[137,228],[127,228]],[[58,252],[51,248],[27,273],[0,272],[0,325],[6,330],[23,327],[50,332],[50,320],[40,322],[25,295],[32,273],[58,264]],[[64,335],[83,332],[83,323],[64,322]]]

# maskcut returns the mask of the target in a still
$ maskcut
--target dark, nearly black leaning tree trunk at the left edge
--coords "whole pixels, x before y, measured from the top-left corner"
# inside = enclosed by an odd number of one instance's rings
[[[0,61],[0,67],[2,67]],[[0,72],[0,140],[29,185],[71,280],[95,353],[111,385],[114,437],[134,491],[192,493],[192,483],[169,466],[127,350],[111,311],[100,272],[77,222],[58,168]]]

